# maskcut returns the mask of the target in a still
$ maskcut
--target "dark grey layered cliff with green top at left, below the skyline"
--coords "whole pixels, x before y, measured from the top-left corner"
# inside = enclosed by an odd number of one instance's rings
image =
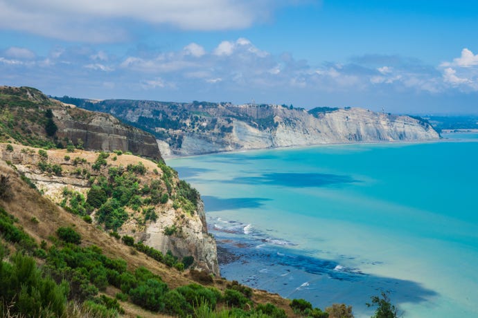
[[[123,124],[112,115],[78,109],[50,100],[30,87],[0,86],[3,135],[29,146],[65,147],[70,141],[87,150],[130,151],[162,160],[153,135]],[[50,124],[47,130],[47,125]]]

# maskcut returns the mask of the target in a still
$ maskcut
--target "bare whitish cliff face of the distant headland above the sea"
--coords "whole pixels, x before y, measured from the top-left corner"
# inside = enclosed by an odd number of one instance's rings
[[[207,133],[186,133],[182,147],[174,152],[187,156],[242,149],[348,142],[416,142],[440,138],[430,124],[406,115],[389,115],[354,108],[320,113],[315,117],[300,109],[290,110],[276,106],[272,110],[272,127],[258,129],[234,119],[232,132],[226,133],[222,138],[210,137]],[[271,112],[271,109],[267,111]]]

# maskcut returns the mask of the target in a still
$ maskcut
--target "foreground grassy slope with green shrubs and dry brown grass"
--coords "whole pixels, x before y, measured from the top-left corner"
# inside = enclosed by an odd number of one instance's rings
[[[216,306],[266,310],[260,303],[297,317],[276,294],[157,261],[141,243],[126,244],[127,236],[121,240],[48,200],[10,162],[0,160],[0,179],[1,317],[184,317],[200,299],[210,312],[201,317],[212,317]]]

